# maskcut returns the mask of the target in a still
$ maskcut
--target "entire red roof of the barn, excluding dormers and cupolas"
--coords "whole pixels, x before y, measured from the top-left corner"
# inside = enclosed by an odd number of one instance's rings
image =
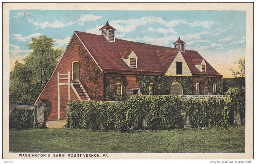
[[[156,46],[145,43],[115,39],[109,42],[104,36],[77,32],[76,34],[84,43],[104,72],[118,71],[119,73],[144,73],[164,75],[171,65],[179,49],[172,47]],[[138,68],[130,68],[121,58],[127,58],[134,51],[139,58]],[[127,56],[128,55],[128,56]],[[199,71],[192,60],[204,59],[198,52],[186,50],[182,53],[192,74],[196,75],[221,75],[206,62],[206,73]],[[201,63],[200,63],[201,64]]]

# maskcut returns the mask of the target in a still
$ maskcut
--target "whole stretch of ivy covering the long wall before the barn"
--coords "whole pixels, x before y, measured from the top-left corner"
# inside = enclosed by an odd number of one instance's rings
[[[70,101],[67,127],[121,132],[171,130],[182,128],[187,117],[192,127],[230,126],[234,111],[245,114],[244,99],[237,90],[235,93],[230,91],[231,96],[221,100],[182,100],[168,95],[131,96],[118,103]]]

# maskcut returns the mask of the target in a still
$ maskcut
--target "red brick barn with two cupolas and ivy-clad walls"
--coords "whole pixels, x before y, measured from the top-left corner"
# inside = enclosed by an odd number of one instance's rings
[[[65,120],[69,100],[120,101],[133,94],[218,93],[217,81],[222,75],[197,51],[187,50],[180,37],[172,48],[116,39],[116,29],[108,22],[99,30],[101,35],[73,33],[36,100],[41,103],[47,98],[52,103],[48,121]]]

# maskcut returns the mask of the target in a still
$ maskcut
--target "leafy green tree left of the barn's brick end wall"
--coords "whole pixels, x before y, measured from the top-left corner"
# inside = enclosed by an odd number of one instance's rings
[[[45,35],[32,38],[33,51],[23,61],[15,62],[10,73],[10,102],[31,105],[49,80],[63,49],[53,48],[54,41]]]

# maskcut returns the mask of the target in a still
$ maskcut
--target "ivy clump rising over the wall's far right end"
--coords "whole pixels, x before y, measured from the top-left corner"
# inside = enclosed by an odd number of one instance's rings
[[[230,88],[225,93],[230,95],[229,106],[231,109],[231,114],[240,114],[241,124],[245,125],[245,89],[241,88]]]

